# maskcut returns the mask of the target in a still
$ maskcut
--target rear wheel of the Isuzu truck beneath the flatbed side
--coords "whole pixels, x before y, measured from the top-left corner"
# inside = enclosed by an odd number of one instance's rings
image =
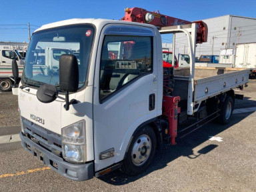
[[[232,97],[227,96],[223,105],[221,106],[221,115],[219,116],[219,123],[227,125],[230,122],[234,109],[234,100]]]

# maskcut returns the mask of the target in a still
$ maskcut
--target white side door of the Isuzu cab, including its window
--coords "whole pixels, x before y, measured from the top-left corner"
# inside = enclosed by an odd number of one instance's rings
[[[101,32],[93,93],[95,171],[121,161],[135,129],[157,117],[155,47],[149,27],[109,24]],[[114,156],[101,160],[108,150]]]

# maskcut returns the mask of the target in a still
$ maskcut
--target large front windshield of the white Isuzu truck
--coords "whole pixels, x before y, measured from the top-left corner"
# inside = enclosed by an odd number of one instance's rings
[[[23,83],[40,87],[47,83],[59,86],[59,58],[63,54],[77,57],[79,89],[85,85],[94,28],[92,25],[71,25],[35,33],[25,59]]]

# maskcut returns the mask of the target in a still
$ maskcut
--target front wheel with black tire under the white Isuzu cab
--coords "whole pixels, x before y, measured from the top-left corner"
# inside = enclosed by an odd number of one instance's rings
[[[141,128],[133,137],[127,155],[123,160],[122,171],[127,175],[138,175],[149,167],[155,156],[157,137],[150,126]]]

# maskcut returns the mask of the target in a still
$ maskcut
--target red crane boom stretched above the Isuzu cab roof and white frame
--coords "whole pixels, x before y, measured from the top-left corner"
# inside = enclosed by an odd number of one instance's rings
[[[159,13],[159,11],[147,11],[139,7],[125,8],[125,17],[121,20],[137,23],[149,23],[156,27],[167,27],[174,25],[185,25],[197,23],[197,41],[196,43],[207,42],[208,28],[203,21],[185,21],[175,17],[170,17]]]

